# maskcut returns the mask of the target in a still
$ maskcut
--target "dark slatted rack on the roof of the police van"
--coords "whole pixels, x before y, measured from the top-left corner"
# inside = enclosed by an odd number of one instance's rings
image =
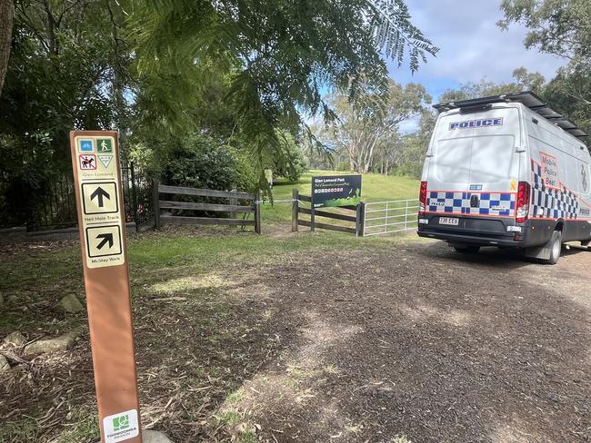
[[[587,137],[587,133],[581,128],[576,126],[575,123],[568,120],[560,113],[556,113],[546,102],[531,91],[524,91],[522,93],[502,94],[502,95],[491,95],[489,97],[481,97],[470,100],[458,100],[456,102],[449,103],[437,103],[433,107],[440,113],[444,111],[450,111],[452,109],[475,109],[479,106],[486,106],[491,103],[507,103],[516,102],[526,105],[532,111],[538,113],[544,117],[550,123],[556,124],[559,128],[562,128],[567,133],[574,135],[575,137],[582,138]]]

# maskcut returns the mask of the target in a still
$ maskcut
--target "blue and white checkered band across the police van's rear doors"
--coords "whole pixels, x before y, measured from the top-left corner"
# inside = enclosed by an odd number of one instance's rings
[[[470,205],[472,195],[478,196],[477,208],[472,208]],[[513,217],[516,208],[516,194],[514,192],[430,191],[427,208],[429,212]]]

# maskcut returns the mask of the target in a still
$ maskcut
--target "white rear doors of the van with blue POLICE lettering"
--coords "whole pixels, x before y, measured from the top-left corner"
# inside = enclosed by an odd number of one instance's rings
[[[427,173],[427,211],[515,218],[519,110],[442,114]]]

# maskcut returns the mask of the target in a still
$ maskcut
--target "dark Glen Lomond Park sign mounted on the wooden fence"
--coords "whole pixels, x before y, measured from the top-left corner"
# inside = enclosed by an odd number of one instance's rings
[[[361,175],[312,177],[312,205],[356,206],[361,202]]]

